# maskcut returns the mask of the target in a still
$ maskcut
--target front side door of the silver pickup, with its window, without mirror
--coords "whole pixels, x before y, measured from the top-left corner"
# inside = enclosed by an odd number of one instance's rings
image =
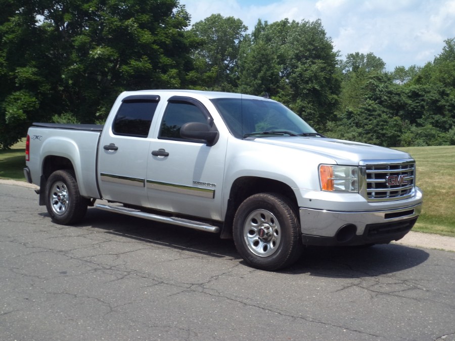
[[[220,136],[211,147],[205,141],[181,138],[179,130],[187,122],[207,123],[216,131],[209,111],[199,101],[183,96],[168,100],[158,136],[150,144],[147,168],[150,206],[221,220],[225,137]]]

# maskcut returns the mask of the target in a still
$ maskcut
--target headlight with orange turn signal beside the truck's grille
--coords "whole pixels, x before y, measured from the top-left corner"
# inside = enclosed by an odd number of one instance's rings
[[[358,192],[358,168],[351,166],[320,165],[321,189]]]

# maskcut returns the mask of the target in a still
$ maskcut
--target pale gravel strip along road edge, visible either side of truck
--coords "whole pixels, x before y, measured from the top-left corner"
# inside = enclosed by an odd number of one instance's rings
[[[39,187],[24,181],[17,181],[11,179],[0,179],[0,184],[12,185],[12,186],[22,186],[33,189],[38,189]],[[393,243],[425,248],[425,249],[436,249],[436,250],[445,250],[455,252],[455,237],[447,237],[439,234],[432,233],[422,233],[411,231],[407,233],[402,239],[398,241],[393,241]]]

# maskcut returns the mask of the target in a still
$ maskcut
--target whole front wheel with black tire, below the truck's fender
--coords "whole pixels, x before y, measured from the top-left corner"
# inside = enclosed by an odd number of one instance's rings
[[[234,217],[233,234],[237,251],[257,269],[288,267],[303,251],[300,223],[293,205],[277,193],[247,198]]]

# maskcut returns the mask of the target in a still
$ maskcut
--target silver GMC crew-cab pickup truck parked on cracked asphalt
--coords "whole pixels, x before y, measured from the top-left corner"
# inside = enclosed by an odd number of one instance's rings
[[[24,173],[59,224],[104,199],[97,208],[234,238],[265,270],[304,245],[398,240],[422,208],[407,153],[327,138],[237,93],[127,91],[104,126],[34,123]]]

